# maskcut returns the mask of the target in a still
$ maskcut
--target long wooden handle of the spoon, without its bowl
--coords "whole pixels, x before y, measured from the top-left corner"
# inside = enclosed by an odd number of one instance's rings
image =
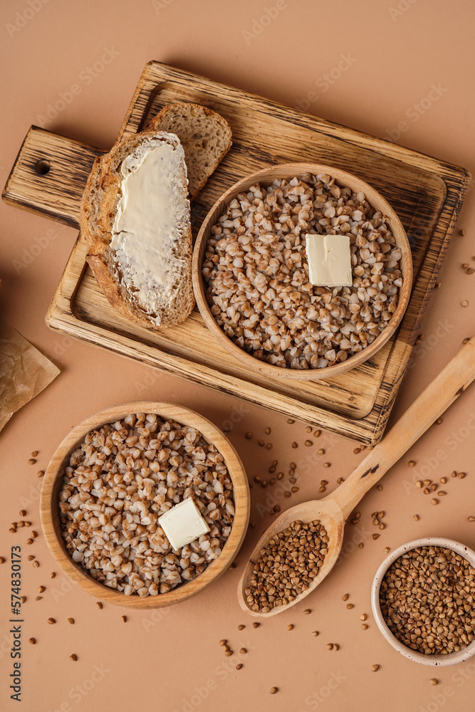
[[[475,378],[475,337],[449,361],[350,476],[328,498],[346,519],[362,496],[394,465]]]

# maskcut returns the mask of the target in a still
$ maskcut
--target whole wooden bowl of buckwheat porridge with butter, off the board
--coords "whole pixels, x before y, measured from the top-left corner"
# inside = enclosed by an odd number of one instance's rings
[[[221,431],[155,402],[76,426],[48,465],[40,502],[66,575],[98,600],[134,608],[177,603],[219,578],[244,540],[249,506],[244,467]]]

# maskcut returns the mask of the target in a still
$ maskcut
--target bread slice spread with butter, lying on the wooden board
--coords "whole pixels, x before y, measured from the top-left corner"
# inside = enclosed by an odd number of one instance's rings
[[[90,268],[123,316],[151,329],[187,318],[194,306],[192,231],[176,135],[145,130],[95,159],[80,227]]]

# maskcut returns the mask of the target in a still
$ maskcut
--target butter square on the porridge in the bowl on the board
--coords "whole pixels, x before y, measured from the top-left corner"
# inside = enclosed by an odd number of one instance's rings
[[[308,276],[313,286],[350,287],[350,237],[348,235],[306,235]]]

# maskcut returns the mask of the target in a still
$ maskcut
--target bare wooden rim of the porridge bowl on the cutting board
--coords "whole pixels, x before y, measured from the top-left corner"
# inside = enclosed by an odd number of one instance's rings
[[[397,246],[400,247],[402,252],[400,266],[403,278],[403,284],[400,289],[399,299],[397,302],[397,309],[392,315],[392,318],[387,324],[385,330],[382,331],[382,333],[369,346],[360,351],[360,353],[350,356],[348,360],[333,366],[311,370],[297,370],[273,366],[265,361],[256,359],[251,354],[244,351],[244,349],[241,349],[239,346],[234,344],[234,342],[232,342],[231,339],[226,336],[224,331],[216,324],[216,320],[212,315],[211,308],[206,297],[207,285],[202,276],[204,255],[206,253],[212,227],[216,225],[221,215],[226,211],[226,207],[231,200],[233,200],[239,193],[246,193],[249,188],[256,183],[259,183],[261,187],[268,187],[276,179],[286,178],[290,180],[294,177],[301,176],[304,173],[311,173],[313,175],[318,175],[320,173],[330,174],[338,181],[340,186],[348,186],[355,193],[360,191],[365,193],[367,201],[370,205],[382,212],[383,215],[388,216],[390,219],[389,224],[392,230],[392,235],[395,238]],[[352,370],[357,365],[360,365],[362,362],[370,359],[380,350],[382,346],[385,345],[387,341],[390,340],[392,335],[395,333],[395,330],[400,325],[400,321],[404,316],[404,312],[407,308],[407,303],[409,302],[409,297],[411,295],[412,255],[406,233],[404,232],[404,228],[402,227],[400,219],[395,214],[395,211],[374,188],[369,186],[360,178],[355,178],[348,172],[342,171],[338,168],[317,163],[283,163],[278,166],[264,168],[261,171],[252,173],[250,176],[246,176],[246,178],[238,181],[221,197],[219,197],[199,229],[197,241],[193,251],[192,273],[194,295],[197,300],[199,313],[202,315],[204,323],[207,325],[216,340],[221,343],[226,351],[239,360],[241,365],[247,367],[251,371],[255,370],[266,377],[286,378],[293,379],[295,381],[315,381],[328,379],[337,375],[343,375],[345,372]]]

